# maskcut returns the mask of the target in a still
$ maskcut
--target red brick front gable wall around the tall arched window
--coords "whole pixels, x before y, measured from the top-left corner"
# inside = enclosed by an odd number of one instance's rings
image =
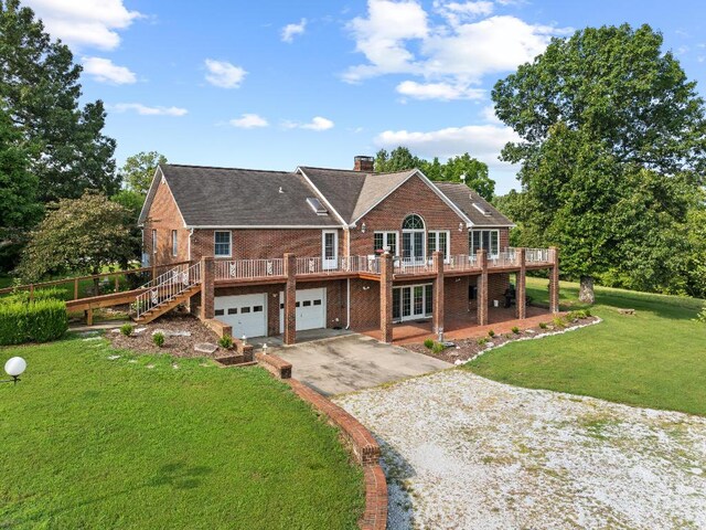
[[[407,215],[416,213],[424,219],[427,230],[448,230],[451,235],[451,254],[468,253],[466,224],[459,232],[461,218],[451,210],[420,178],[410,180],[395,190],[388,198],[357,222],[351,230],[351,255],[373,254],[374,232],[397,231],[397,254],[402,255],[402,223]],[[365,223],[365,233],[361,226]],[[425,245],[427,240],[425,237]]]

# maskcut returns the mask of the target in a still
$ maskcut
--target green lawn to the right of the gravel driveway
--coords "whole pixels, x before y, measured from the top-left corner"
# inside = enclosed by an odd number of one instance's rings
[[[547,299],[547,282],[527,278],[528,295]],[[578,284],[561,282],[563,307],[578,304]],[[703,300],[596,288],[598,326],[515,342],[466,365],[485,378],[535,389],[592,395],[653,409],[706,415],[706,325]],[[633,308],[634,316],[618,308]]]

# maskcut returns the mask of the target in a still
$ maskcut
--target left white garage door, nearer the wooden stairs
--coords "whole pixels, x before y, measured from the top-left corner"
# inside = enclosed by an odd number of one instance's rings
[[[267,335],[267,295],[216,296],[215,316],[233,326],[233,337]]]

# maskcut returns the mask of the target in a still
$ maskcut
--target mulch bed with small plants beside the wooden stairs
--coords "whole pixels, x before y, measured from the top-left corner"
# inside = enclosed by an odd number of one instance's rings
[[[106,338],[115,348],[124,348],[141,353],[169,353],[174,357],[220,357],[231,350],[221,347],[214,353],[202,353],[194,350],[194,344],[210,342],[217,344],[218,336],[204,326],[196,317],[191,315],[168,314],[146,325],[135,325],[135,329],[147,328],[139,335],[126,337],[113,330],[106,331]],[[161,348],[152,342],[152,332],[157,329],[164,331],[189,331],[191,337],[164,336],[164,346]]]

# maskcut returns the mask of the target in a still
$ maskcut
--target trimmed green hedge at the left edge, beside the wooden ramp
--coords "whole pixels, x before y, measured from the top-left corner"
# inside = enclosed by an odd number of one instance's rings
[[[67,329],[66,305],[61,300],[0,304],[0,346],[47,342]]]

